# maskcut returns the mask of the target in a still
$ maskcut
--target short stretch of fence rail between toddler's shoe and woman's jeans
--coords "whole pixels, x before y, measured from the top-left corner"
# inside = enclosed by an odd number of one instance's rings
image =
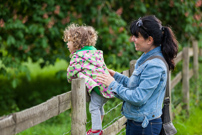
[[[125,128],[125,125],[123,125],[126,122],[125,116],[121,117],[119,120],[114,122],[112,125],[107,127],[103,130],[103,135],[116,135],[119,133],[123,128]]]

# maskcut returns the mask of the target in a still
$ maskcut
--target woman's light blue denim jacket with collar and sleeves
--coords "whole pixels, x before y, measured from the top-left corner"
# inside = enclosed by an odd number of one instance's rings
[[[161,46],[142,54],[135,64],[130,78],[115,73],[108,89],[123,100],[122,114],[130,120],[142,122],[147,127],[149,120],[162,114],[162,103],[167,82],[167,68],[161,59],[154,58],[144,63],[151,56],[162,56]]]

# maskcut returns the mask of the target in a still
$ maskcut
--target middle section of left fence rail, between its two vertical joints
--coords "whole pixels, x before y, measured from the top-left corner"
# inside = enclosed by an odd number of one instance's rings
[[[40,105],[34,106],[21,112],[15,113],[16,115],[16,131],[19,133],[25,129],[35,126],[44,122],[53,116],[59,114],[58,97],[51,98],[50,100]]]

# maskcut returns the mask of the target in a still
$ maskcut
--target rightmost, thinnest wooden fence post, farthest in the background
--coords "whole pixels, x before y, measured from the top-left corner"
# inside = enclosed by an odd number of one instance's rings
[[[198,82],[198,42],[196,40],[193,41],[193,53],[194,53],[194,80],[197,83]],[[196,94],[196,103],[199,102],[199,91],[198,91],[198,85],[195,85],[195,92]]]

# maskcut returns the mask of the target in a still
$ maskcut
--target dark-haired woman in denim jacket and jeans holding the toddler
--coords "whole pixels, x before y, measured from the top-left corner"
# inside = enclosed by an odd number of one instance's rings
[[[131,23],[130,32],[135,49],[143,52],[130,78],[108,69],[110,75],[98,75],[123,100],[122,114],[127,118],[126,135],[158,135],[162,128],[162,103],[166,90],[167,68],[175,67],[177,40],[169,27],[162,26],[155,16],[145,16]],[[146,61],[147,60],[147,61]]]

